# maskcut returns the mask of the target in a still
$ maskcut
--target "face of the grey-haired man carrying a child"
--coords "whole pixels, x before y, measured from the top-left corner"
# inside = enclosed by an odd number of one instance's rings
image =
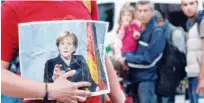
[[[142,24],[148,24],[153,16],[153,9],[148,4],[138,5],[136,15]]]

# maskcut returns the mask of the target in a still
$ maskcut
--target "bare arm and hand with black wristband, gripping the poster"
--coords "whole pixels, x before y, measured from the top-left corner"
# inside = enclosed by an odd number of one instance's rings
[[[43,98],[45,96],[45,83],[23,79],[8,71],[9,63],[1,61],[1,90],[2,94],[20,98]],[[75,74],[71,71],[61,75],[54,83],[48,83],[48,97],[61,102],[73,100],[85,101],[84,97],[90,95],[88,91],[78,90],[80,87],[90,86],[86,82],[72,83],[66,78]]]

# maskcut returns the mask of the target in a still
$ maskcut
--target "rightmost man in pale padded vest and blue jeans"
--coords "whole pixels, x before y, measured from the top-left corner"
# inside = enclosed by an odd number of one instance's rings
[[[181,0],[181,8],[184,14],[188,17],[186,22],[186,28],[188,31],[186,66],[189,81],[188,93],[191,103],[198,103],[199,95],[196,94],[196,88],[198,86],[198,76],[201,70],[202,36],[199,34],[197,28],[198,22],[201,21],[204,14],[203,11],[198,11],[197,0]],[[192,45],[192,43],[196,43],[196,45]]]

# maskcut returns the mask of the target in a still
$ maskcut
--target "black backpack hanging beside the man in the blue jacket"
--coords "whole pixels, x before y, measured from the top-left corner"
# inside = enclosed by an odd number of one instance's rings
[[[176,87],[186,76],[186,55],[180,52],[170,39],[166,38],[163,56],[157,65],[159,78],[156,84],[156,93],[161,96],[174,96]]]

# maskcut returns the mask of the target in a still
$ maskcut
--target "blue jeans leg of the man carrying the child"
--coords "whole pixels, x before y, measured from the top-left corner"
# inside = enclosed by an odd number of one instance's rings
[[[139,103],[157,103],[154,81],[145,81],[139,83],[138,99]]]

